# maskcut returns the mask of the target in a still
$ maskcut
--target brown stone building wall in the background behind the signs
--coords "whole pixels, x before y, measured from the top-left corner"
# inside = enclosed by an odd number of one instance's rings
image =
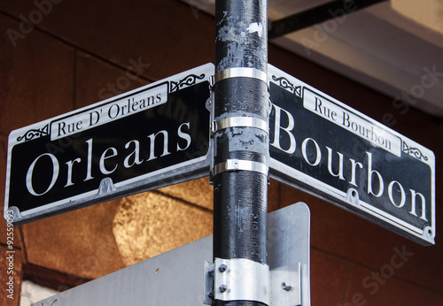
[[[214,62],[214,19],[175,0],[2,1],[0,33],[0,198],[13,129]],[[269,63],[377,121],[392,113],[393,129],[435,152],[439,186],[441,120],[412,109],[403,115],[392,98],[272,45]],[[443,303],[441,188],[437,245],[422,247],[276,181],[269,187],[269,211],[299,201],[311,210],[313,305]],[[212,233],[212,187],[207,178],[165,187],[19,226],[14,233],[15,287],[23,274],[64,289]],[[4,293],[4,222],[0,243],[0,304],[18,305]],[[405,259],[392,268],[399,251]],[[383,277],[391,271],[392,277]]]

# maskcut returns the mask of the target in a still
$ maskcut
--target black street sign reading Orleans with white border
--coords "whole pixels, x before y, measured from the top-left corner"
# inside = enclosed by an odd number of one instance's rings
[[[14,225],[206,176],[214,65],[12,131]]]

